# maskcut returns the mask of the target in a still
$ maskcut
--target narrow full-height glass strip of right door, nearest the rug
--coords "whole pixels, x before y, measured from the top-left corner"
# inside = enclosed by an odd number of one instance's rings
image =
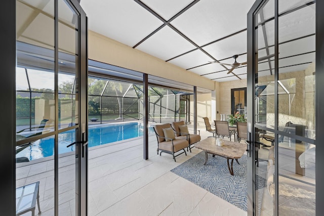
[[[266,1],[255,20],[255,211],[256,215],[272,215],[274,198],[267,181],[274,174],[274,0]],[[273,170],[273,171],[272,171]],[[269,181],[270,182],[270,181]],[[270,186],[271,187],[271,186]]]

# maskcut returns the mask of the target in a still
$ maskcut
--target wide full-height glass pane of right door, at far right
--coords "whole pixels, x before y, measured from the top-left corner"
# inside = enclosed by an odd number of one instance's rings
[[[315,215],[315,3],[278,2],[278,213]]]

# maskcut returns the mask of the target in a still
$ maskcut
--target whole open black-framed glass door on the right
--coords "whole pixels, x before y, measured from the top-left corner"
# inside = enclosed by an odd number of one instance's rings
[[[323,7],[260,0],[248,14],[249,215],[323,211]]]

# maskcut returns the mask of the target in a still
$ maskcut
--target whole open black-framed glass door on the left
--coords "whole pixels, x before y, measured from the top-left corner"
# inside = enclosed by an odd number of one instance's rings
[[[33,208],[33,199],[39,202],[35,215],[86,215],[86,14],[76,0],[17,0],[11,13],[16,65],[8,71],[15,79],[7,81],[16,92],[15,151],[10,151],[16,159],[16,212],[8,215]],[[27,191],[28,186],[37,190]]]

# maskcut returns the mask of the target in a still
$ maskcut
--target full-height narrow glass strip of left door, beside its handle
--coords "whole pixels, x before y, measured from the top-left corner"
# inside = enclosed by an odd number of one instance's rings
[[[78,14],[66,1],[59,0],[58,16],[59,214],[75,215],[78,144],[72,143],[78,136]]]

